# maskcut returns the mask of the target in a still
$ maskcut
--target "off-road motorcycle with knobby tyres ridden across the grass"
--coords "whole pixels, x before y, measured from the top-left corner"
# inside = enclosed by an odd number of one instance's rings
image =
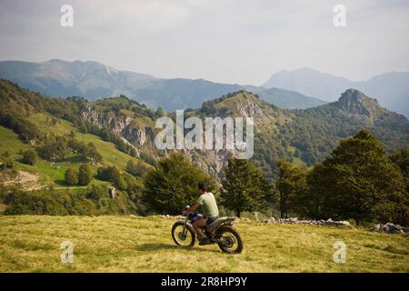
[[[190,213],[185,220],[176,221],[172,226],[172,237],[177,246],[195,246],[196,233],[190,223],[192,216]],[[212,244],[217,244],[219,248],[227,254],[240,254],[243,251],[243,240],[236,229],[234,229],[234,217],[220,217],[212,224],[204,227],[205,235]],[[198,239],[198,236],[197,236]]]

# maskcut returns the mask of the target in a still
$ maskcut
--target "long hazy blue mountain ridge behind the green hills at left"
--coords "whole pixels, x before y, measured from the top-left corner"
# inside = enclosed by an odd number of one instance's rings
[[[250,90],[265,101],[283,108],[304,109],[324,104],[322,100],[283,89],[220,84],[203,79],[156,78],[119,71],[96,62],[3,61],[0,62],[0,78],[53,97],[83,96],[95,100],[127,95],[151,108],[162,106],[166,110],[197,108],[204,101],[242,89]]]

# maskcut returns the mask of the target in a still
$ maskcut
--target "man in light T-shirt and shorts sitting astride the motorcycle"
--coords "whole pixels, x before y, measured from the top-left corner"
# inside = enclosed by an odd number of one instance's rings
[[[208,188],[205,183],[198,184],[201,195],[193,206],[190,206],[184,211],[184,216],[194,212],[199,206],[202,206],[204,216],[195,214],[192,216],[191,224],[195,228],[197,236],[199,236],[199,245],[210,245],[212,242],[205,236],[203,227],[212,224],[215,219],[219,218],[219,209],[214,199],[212,192],[207,192]]]

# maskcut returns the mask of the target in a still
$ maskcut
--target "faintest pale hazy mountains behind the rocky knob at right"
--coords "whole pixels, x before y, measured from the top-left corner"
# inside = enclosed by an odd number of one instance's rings
[[[354,82],[344,77],[323,74],[310,68],[281,71],[270,77],[264,87],[294,90],[331,102],[349,88],[371,95],[380,105],[409,116],[409,72],[376,75],[367,81]]]

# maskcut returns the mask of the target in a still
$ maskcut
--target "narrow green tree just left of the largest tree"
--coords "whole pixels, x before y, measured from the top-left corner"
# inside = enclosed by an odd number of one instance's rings
[[[277,161],[277,178],[275,192],[279,196],[279,206],[282,218],[287,218],[289,212],[303,208],[303,196],[307,191],[306,175],[302,168],[292,166],[285,161]]]

